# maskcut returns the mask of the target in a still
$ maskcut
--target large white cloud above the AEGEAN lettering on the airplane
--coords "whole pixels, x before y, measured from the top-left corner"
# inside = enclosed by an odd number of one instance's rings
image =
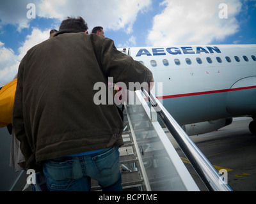
[[[228,6],[228,18],[219,17],[219,5]],[[165,0],[163,13],[154,17],[148,33],[148,45],[195,45],[223,40],[239,29],[236,15],[241,10],[239,0]]]

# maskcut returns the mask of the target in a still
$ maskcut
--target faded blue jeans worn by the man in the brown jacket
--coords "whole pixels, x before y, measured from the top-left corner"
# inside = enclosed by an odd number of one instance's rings
[[[44,175],[50,191],[90,191],[91,178],[102,191],[122,191],[118,147],[85,156],[49,159]]]

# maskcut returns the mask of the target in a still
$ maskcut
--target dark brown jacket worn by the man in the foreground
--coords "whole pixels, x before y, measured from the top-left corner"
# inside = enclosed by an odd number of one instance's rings
[[[123,144],[115,105],[95,105],[97,82],[150,82],[152,73],[96,34],[60,31],[19,66],[13,127],[27,168],[41,161]],[[35,166],[36,164],[36,166]]]

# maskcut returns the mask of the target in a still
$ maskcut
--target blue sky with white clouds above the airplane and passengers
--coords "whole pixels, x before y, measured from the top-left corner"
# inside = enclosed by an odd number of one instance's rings
[[[117,48],[256,44],[256,0],[0,0],[0,85],[71,16]]]

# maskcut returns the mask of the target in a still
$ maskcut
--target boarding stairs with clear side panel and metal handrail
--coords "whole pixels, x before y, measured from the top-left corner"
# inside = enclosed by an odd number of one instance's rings
[[[124,191],[200,191],[160,126],[157,115],[207,189],[232,191],[153,94],[145,90],[132,94],[124,103],[124,145],[119,149]],[[95,180],[92,191],[100,191]]]

